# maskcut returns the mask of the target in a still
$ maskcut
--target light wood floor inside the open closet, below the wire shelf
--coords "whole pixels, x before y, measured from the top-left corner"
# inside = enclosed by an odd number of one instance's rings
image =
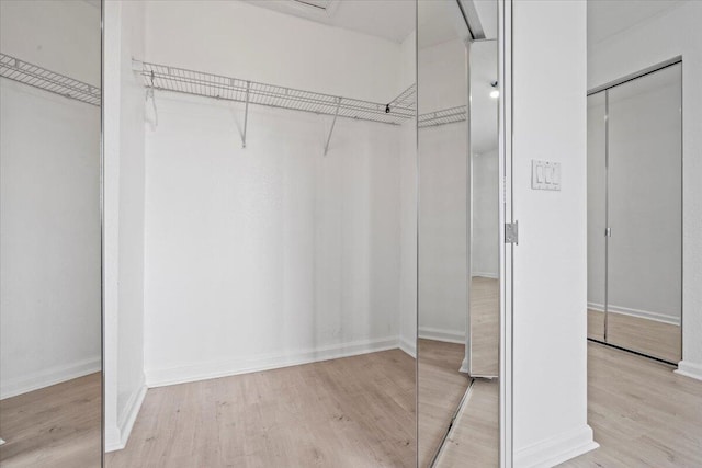
[[[399,350],[155,388],[106,467],[414,467],[415,404]]]

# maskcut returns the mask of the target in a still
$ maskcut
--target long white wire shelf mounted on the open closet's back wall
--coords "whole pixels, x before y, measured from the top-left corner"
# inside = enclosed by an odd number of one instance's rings
[[[377,103],[150,62],[140,62],[137,70],[155,90],[393,125],[415,117],[414,84],[393,101]]]

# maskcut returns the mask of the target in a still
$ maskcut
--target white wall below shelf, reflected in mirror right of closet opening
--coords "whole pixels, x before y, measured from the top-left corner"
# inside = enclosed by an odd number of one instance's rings
[[[465,123],[419,130],[421,338],[458,343],[465,340],[468,277],[466,163]]]

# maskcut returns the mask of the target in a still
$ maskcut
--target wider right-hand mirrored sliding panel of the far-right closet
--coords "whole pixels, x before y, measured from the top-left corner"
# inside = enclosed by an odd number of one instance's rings
[[[680,64],[609,93],[608,342],[680,359]]]

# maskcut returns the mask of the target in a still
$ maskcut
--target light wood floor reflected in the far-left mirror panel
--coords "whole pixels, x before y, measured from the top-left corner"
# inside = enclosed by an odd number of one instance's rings
[[[101,375],[0,400],[0,466],[100,467]]]

